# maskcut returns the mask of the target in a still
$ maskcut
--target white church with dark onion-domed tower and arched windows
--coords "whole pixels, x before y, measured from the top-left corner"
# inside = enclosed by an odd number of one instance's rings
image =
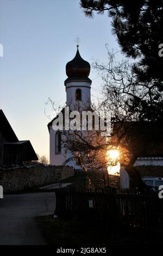
[[[76,106],[87,107],[91,106],[91,83],[89,78],[91,66],[84,60],[79,53],[77,45],[76,56],[66,64],[65,89],[66,89],[66,106],[70,110],[76,110]],[[61,111],[64,114],[64,109]],[[61,144],[61,132],[53,129],[53,121],[49,124],[49,141],[50,141],[50,164],[60,166],[71,157],[72,153],[65,154],[65,150]],[[75,169],[81,169],[81,166],[76,160],[71,160],[66,163]]]

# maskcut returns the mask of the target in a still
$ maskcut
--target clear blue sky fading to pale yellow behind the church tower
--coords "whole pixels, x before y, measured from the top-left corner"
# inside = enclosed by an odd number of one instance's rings
[[[45,102],[66,100],[65,66],[76,54],[77,36],[90,64],[106,62],[105,44],[120,50],[107,14],[88,19],[79,0],[0,0],[0,108],[18,139],[29,139],[40,156],[49,157]],[[93,70],[90,78],[97,96],[101,80]]]

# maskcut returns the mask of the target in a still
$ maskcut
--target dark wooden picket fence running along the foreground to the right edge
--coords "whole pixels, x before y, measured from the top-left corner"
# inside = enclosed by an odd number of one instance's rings
[[[57,190],[55,215],[102,221],[109,227],[163,231],[163,199],[158,193],[117,191],[114,188]]]

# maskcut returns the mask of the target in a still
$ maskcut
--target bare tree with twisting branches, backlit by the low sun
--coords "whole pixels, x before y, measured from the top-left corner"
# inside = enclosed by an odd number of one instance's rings
[[[140,175],[133,164],[147,149],[149,142],[156,143],[162,139],[157,131],[158,126],[161,127],[162,94],[159,92],[158,96],[158,91],[151,83],[138,83],[131,63],[127,60],[117,63],[116,53],[110,52],[107,46],[106,50],[108,64],[96,61],[93,63],[93,68],[103,81],[102,100],[98,106],[90,106],[84,110],[98,113],[101,109],[103,113],[110,112],[111,134],[106,138],[101,136],[100,130],[95,129],[62,131],[62,147],[66,153],[72,153],[64,164],[76,160],[85,169],[100,170],[120,161],[136,185],[142,187]],[[81,112],[78,107],[74,106],[74,109]],[[82,121],[82,115],[80,117]],[[120,152],[120,156],[114,161],[108,156],[111,149],[118,149]]]

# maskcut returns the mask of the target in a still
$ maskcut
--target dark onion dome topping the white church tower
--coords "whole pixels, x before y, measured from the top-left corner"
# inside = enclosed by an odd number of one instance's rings
[[[68,77],[89,77],[90,70],[91,66],[89,62],[82,59],[78,49],[76,56],[66,64],[66,75]]]

